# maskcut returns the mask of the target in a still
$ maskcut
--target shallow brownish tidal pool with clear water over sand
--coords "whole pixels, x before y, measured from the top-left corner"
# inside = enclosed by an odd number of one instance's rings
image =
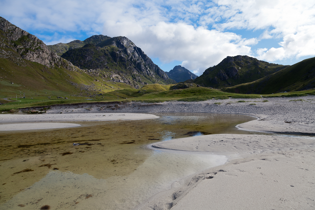
[[[0,209],[133,209],[174,181],[227,160],[224,155],[161,152],[146,145],[196,135],[248,134],[252,132],[235,125],[255,120],[230,114],[155,114],[160,118],[2,131]]]

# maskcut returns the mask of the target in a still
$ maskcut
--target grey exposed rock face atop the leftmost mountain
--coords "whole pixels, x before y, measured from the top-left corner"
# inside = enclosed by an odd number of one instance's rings
[[[66,61],[55,53],[51,52],[46,44],[36,36],[11,24],[8,20],[0,17],[1,47],[7,50],[0,51],[0,57],[12,57],[12,49],[20,55],[22,59],[37,62],[47,67],[63,66],[68,70],[75,70],[76,67],[71,62]],[[15,55],[14,59],[18,59]],[[20,59],[21,60],[21,59]],[[23,61],[21,61],[23,62]]]

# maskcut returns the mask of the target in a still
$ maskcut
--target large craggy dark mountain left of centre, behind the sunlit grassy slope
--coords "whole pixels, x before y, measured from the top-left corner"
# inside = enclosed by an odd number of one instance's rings
[[[93,77],[122,82],[135,88],[172,84],[167,74],[126,37],[95,35],[84,41],[48,46]]]

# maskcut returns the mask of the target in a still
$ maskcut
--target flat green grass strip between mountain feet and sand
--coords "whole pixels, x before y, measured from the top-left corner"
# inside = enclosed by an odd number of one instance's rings
[[[46,96],[26,96],[26,98],[12,97],[9,98],[14,102],[7,102],[0,105],[0,112],[9,112],[10,110],[17,110],[19,108],[36,107],[36,106],[49,106],[53,104],[73,104],[82,102],[147,102],[147,103],[158,103],[164,101],[186,101],[186,102],[197,102],[205,101],[210,99],[255,99],[255,98],[268,98],[268,97],[295,97],[295,96],[306,96],[315,95],[315,90],[304,90],[291,93],[278,93],[270,95],[257,95],[257,94],[236,94],[227,93],[217,89],[205,88],[205,87],[194,87],[179,90],[169,90],[172,85],[145,85],[141,89],[121,89],[115,90],[103,94],[95,94],[91,96],[81,96],[82,94],[56,94]],[[57,98],[58,96],[68,98]],[[17,101],[16,101],[17,100]],[[3,101],[3,100],[2,100]],[[242,100],[240,100],[242,101]]]

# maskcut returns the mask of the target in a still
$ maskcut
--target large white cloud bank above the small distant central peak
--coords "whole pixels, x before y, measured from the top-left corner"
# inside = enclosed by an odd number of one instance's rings
[[[105,25],[104,34],[110,30],[121,32],[124,28],[121,24]],[[208,30],[202,26],[195,28],[186,23],[158,22],[153,26],[128,27],[124,33],[146,54],[165,63],[183,61],[182,66],[198,75],[227,55],[250,55],[251,48],[246,44],[257,42],[256,39],[242,39],[235,33]]]

